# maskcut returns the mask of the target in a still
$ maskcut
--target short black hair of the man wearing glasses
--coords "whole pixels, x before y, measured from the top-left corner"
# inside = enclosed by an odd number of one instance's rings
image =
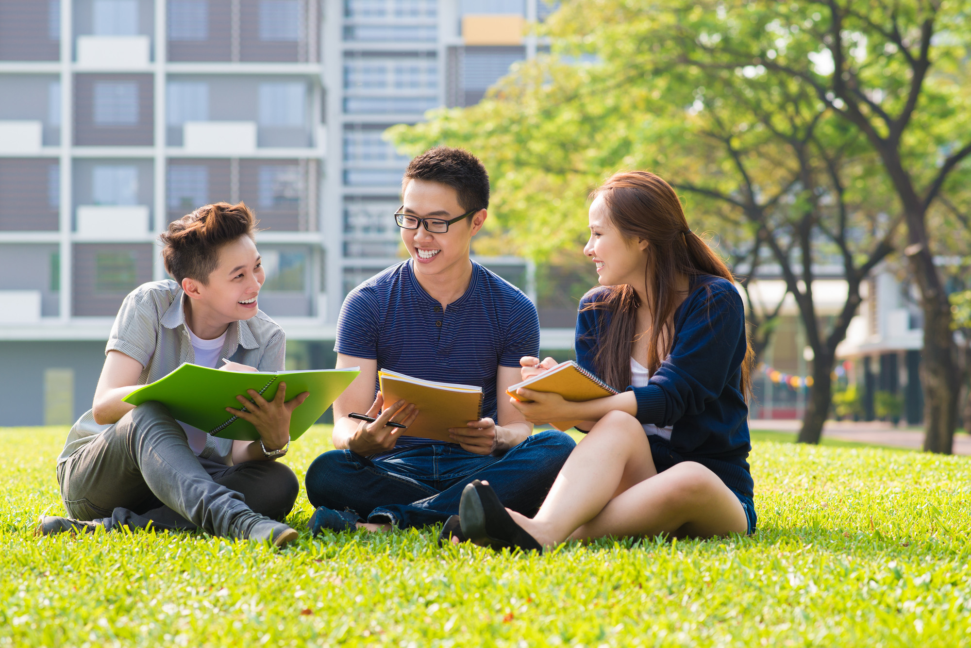
[[[465,211],[488,208],[488,172],[479,158],[464,148],[429,148],[408,165],[401,180],[402,193],[411,180],[441,182],[452,187]]]

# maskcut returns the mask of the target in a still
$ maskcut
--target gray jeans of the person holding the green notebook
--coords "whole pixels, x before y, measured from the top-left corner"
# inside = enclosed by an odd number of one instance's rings
[[[57,467],[68,515],[113,529],[203,529],[249,535],[268,517],[283,520],[300,490],[275,461],[223,466],[196,457],[165,405],[139,405]]]

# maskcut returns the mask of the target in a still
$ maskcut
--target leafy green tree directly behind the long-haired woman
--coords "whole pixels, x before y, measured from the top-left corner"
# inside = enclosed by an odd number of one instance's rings
[[[860,303],[861,281],[892,249],[899,222],[873,195],[886,193],[875,156],[804,83],[757,66],[675,64],[657,43],[690,16],[647,5],[566,5],[549,23],[554,48],[598,62],[522,64],[483,104],[389,136],[413,150],[445,142],[482,155],[503,236],[526,253],[579,243],[586,192],[619,168],[652,169],[693,195],[691,222],[716,230],[731,256],[754,252],[759,262],[764,250],[795,296],[815,356],[800,439],[817,442],[836,346]],[[849,283],[828,324],[813,299],[820,259],[843,265]],[[759,314],[749,310],[750,318]],[[762,347],[778,308],[765,314],[751,322]]]

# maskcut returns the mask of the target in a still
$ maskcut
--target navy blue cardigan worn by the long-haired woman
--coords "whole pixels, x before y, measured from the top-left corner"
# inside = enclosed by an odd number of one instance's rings
[[[611,313],[583,308],[605,296],[604,288],[591,290],[581,300],[577,317],[577,363],[591,373],[596,373],[597,340],[610,325]],[[674,313],[670,357],[646,387],[626,390],[637,397],[638,421],[674,426],[670,441],[649,437],[658,472],[683,461],[697,462],[728,488],[753,497],[746,461],[752,450],[749,406],[740,391],[745,351],[745,308],[735,286],[716,276],[695,281]]]

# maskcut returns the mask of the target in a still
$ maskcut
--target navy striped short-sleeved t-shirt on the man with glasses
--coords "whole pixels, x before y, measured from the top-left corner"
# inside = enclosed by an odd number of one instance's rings
[[[465,294],[443,310],[420,286],[409,259],[351,291],[334,350],[377,360],[378,369],[481,386],[483,417],[495,420],[498,368],[519,368],[519,358],[539,353],[540,322],[519,288],[475,261]],[[400,437],[395,450],[440,442]]]

